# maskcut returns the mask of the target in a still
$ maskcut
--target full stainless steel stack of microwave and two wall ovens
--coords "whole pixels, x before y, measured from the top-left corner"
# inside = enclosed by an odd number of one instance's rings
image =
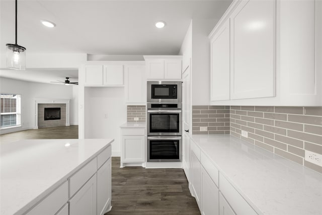
[[[182,83],[147,82],[147,162],[180,162]]]

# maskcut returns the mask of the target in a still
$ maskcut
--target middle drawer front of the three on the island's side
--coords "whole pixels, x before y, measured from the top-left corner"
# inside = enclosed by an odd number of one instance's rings
[[[89,178],[97,171],[97,158],[94,158],[82,169],[72,175],[69,180],[70,197],[73,196],[79,188],[81,188]]]

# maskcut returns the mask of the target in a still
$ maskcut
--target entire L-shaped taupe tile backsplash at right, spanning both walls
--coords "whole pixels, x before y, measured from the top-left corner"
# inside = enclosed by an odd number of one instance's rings
[[[322,107],[192,106],[192,134],[229,133],[322,173],[304,159],[305,150],[322,154]]]

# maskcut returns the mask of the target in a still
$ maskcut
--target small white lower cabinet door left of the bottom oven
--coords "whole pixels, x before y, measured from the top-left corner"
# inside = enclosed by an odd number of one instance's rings
[[[123,135],[122,136],[122,162],[145,161],[145,136]]]

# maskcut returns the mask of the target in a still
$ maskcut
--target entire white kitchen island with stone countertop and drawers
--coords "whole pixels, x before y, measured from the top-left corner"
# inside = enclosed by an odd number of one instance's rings
[[[1,145],[1,214],[111,210],[114,139],[30,139]]]

